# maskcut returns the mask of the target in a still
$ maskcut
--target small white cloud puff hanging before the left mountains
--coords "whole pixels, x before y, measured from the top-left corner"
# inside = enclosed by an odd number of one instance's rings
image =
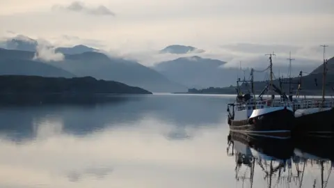
[[[59,52],[55,52],[55,48],[46,40],[39,39],[33,59],[42,61],[63,61],[65,56]]]

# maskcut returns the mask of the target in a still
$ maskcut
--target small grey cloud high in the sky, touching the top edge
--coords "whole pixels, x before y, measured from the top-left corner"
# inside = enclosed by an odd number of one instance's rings
[[[81,1],[73,1],[67,6],[63,5],[54,5],[52,7],[53,10],[68,10],[77,13],[86,13],[89,15],[109,15],[109,16],[116,16],[109,8],[106,6],[100,5],[96,7],[87,6],[85,3]]]

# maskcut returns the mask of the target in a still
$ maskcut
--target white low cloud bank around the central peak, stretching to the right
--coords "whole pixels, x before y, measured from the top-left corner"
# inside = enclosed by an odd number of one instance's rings
[[[334,44],[329,44],[326,49],[326,58],[334,56]],[[200,56],[202,58],[214,58],[225,61],[220,68],[239,68],[240,61],[243,69],[255,68],[255,70],[264,70],[269,65],[269,57],[265,54],[275,52],[273,56],[273,72],[276,77],[287,76],[289,61],[289,52],[292,53],[292,76],[299,75],[300,71],[305,74],[312,72],[321,65],[323,58],[323,49],[319,45],[276,45],[276,44],[256,44],[256,43],[232,43],[217,47],[193,46],[205,49],[201,54],[159,54],[159,49],[131,51],[122,49],[109,50],[109,56],[118,56],[131,61],[138,61],[143,65],[153,67],[162,61],[171,61],[180,57]],[[161,49],[164,47],[161,47]],[[261,78],[262,79],[262,78]]]

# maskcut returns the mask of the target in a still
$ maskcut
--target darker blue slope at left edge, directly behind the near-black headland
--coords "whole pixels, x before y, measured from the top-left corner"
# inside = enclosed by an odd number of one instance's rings
[[[41,77],[75,77],[54,65],[33,61],[33,52],[0,49],[0,75],[35,75]]]

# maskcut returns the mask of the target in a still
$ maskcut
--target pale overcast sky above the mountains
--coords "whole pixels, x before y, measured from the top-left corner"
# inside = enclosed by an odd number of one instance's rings
[[[0,0],[0,37],[20,33],[122,52],[172,44],[319,47],[334,44],[333,7],[333,0]]]

